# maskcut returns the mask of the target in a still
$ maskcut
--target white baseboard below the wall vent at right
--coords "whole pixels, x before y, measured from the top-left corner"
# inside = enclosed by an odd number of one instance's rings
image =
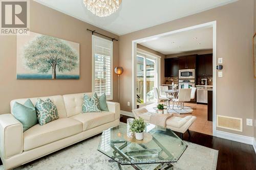
[[[216,136],[223,138],[223,139],[228,139],[228,140],[238,141],[241,143],[251,144],[254,147],[254,144],[253,144],[255,141],[254,137],[243,136],[243,135],[238,135],[238,134],[233,134],[233,133],[228,133],[228,132],[223,132],[223,131],[216,131]],[[254,150],[255,150],[255,148],[254,148]]]

